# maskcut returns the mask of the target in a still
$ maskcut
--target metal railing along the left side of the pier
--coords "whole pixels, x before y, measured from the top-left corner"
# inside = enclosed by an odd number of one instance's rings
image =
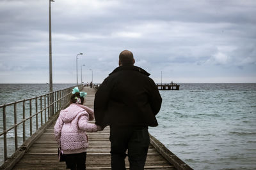
[[[78,87],[82,89],[83,85],[78,85]],[[42,127],[52,115],[70,103],[72,88],[74,87],[0,106],[0,112],[3,111],[3,127],[0,127],[0,132],[3,130],[0,133],[0,141],[3,141],[3,147],[0,146],[0,153],[3,155],[0,157],[3,162],[15,153],[22,143]],[[50,103],[50,97],[53,97],[53,103]],[[0,165],[3,162],[0,161]]]

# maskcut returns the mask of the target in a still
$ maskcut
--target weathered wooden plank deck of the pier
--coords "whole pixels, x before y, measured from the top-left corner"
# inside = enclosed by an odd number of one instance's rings
[[[93,108],[95,90],[84,87],[86,106]],[[58,162],[58,145],[54,138],[54,124],[51,124],[44,134],[29,148],[13,169],[65,169],[65,162]],[[88,132],[89,148],[86,157],[86,169],[111,169],[109,127],[100,132]],[[125,160],[127,169],[129,161]],[[145,169],[175,169],[164,157],[150,145]]]

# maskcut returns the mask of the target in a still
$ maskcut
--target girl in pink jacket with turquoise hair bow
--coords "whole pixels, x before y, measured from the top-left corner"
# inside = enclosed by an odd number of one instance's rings
[[[88,123],[93,120],[93,110],[83,106],[85,92],[73,89],[70,106],[60,111],[54,125],[54,134],[64,154],[67,169],[86,169],[86,148],[88,147],[87,132],[97,132],[99,125]]]

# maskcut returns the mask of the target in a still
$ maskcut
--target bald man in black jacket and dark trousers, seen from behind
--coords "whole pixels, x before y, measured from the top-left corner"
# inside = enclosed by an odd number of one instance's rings
[[[95,94],[95,124],[110,126],[111,168],[125,169],[126,150],[130,169],[144,169],[148,126],[156,127],[162,98],[156,83],[144,69],[134,66],[132,52],[119,55],[117,67]]]

